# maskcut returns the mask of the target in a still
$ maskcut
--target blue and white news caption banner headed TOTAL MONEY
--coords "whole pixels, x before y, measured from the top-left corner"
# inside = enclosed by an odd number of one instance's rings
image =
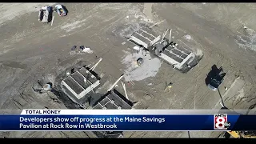
[[[1,112],[2,110],[0,110]],[[256,130],[246,110],[22,110],[0,115],[0,131]]]

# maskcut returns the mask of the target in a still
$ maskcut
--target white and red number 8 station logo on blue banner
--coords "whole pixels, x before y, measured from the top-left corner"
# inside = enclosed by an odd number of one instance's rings
[[[227,122],[227,114],[214,114],[214,130],[227,130],[230,122]]]

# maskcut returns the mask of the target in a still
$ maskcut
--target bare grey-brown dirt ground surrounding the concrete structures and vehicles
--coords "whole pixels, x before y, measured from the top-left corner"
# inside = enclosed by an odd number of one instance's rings
[[[32,86],[43,78],[58,85],[58,76],[73,66],[103,61],[95,71],[103,76],[97,90],[106,91],[126,74],[126,86],[138,109],[254,109],[256,99],[256,48],[254,9],[250,3],[64,3],[66,17],[38,22],[41,6],[53,3],[0,4],[0,108],[66,109],[52,93],[35,94]],[[15,7],[15,9],[10,9]],[[203,54],[187,74],[173,70],[158,58],[150,66],[130,70],[134,44],[122,36],[127,27],[154,26],[157,34],[172,29],[179,44]],[[138,25],[140,24],[140,25]],[[244,29],[244,26],[248,27]],[[89,46],[92,54],[70,54],[74,45]],[[222,66],[226,78],[218,91],[205,83],[213,65]],[[139,69],[140,67],[138,67]],[[130,76],[132,75],[132,76]],[[170,92],[165,84],[172,82]],[[118,89],[122,92],[122,85]],[[225,87],[227,89],[225,89]],[[66,100],[67,101],[67,100]],[[218,132],[125,132],[126,138],[217,138]],[[2,132],[6,138],[92,138],[89,132]]]

